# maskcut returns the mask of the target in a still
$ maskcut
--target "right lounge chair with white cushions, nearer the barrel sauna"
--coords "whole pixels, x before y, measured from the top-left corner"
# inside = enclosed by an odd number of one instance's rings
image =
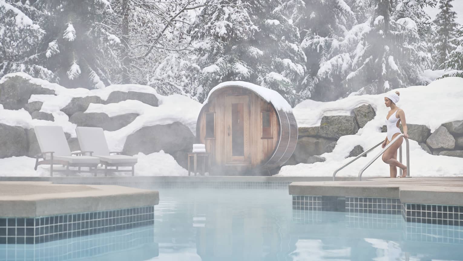
[[[135,164],[137,158],[121,155],[120,152],[110,152],[106,143],[105,134],[102,128],[97,127],[76,127],[75,133],[79,140],[79,145],[83,151],[93,151],[93,156],[100,159],[100,164],[105,166],[105,176],[108,172],[127,172],[119,170],[119,167],[131,167],[132,176],[135,174]],[[111,155],[111,154],[115,155]],[[108,169],[108,167],[116,167]]]

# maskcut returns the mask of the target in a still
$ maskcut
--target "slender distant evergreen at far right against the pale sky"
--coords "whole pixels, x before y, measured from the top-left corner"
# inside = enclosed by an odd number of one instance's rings
[[[436,26],[436,34],[433,39],[433,67],[438,69],[447,60],[451,51],[457,46],[450,39],[454,38],[454,31],[457,29],[458,23],[455,21],[457,13],[452,11],[451,2],[453,0],[440,0],[440,12],[434,19]]]

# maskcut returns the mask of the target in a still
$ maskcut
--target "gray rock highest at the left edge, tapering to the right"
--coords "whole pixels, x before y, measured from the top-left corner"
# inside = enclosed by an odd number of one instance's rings
[[[33,94],[54,95],[55,91],[32,84],[21,76],[8,77],[4,83],[0,84],[0,104],[5,109],[23,108]]]

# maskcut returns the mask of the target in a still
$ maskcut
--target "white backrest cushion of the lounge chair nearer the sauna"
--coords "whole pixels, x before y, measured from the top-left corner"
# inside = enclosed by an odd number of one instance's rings
[[[109,155],[108,144],[102,128],[76,127],[75,133],[81,151],[91,151],[93,152],[92,155]]]

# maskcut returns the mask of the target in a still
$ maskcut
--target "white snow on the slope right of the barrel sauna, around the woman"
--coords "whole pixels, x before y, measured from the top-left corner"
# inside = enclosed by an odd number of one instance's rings
[[[463,120],[463,78],[447,77],[427,86],[411,86],[400,91],[397,106],[405,112],[407,123],[422,124],[435,131],[442,123]],[[376,116],[361,128],[356,135],[342,136],[332,153],[324,153],[325,162],[284,166],[280,176],[332,176],[333,172],[350,159],[345,159],[356,145],[365,150],[384,140],[385,125],[389,108],[384,105],[384,95],[351,95],[335,102],[314,102],[307,100],[293,109],[299,127],[319,126],[325,115],[353,115],[352,109],[362,104],[371,104]],[[360,169],[381,150],[380,147],[347,166],[337,176],[357,176]],[[403,144],[405,162],[405,142]],[[411,176],[463,176],[463,158],[436,156],[426,153],[414,140],[410,140]],[[381,159],[376,160],[363,177],[389,176],[389,167]]]

